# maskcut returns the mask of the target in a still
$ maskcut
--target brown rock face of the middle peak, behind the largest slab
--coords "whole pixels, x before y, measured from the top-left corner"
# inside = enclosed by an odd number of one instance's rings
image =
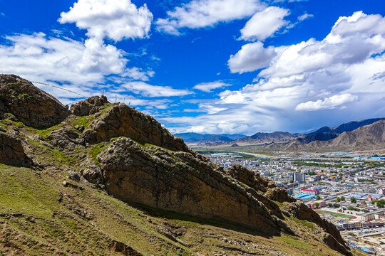
[[[173,151],[189,151],[183,139],[170,134],[153,117],[124,104],[113,105],[88,128],[84,134],[90,143],[123,136]]]

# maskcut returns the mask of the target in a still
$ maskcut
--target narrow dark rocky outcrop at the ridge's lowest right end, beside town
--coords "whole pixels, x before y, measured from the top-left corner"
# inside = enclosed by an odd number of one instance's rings
[[[349,247],[339,233],[339,230],[337,230],[336,226],[321,218],[318,213],[306,206],[304,203],[291,203],[289,206],[286,206],[284,210],[287,210],[287,212],[294,218],[298,218],[299,220],[307,220],[317,224],[327,233],[324,235],[324,242],[329,245],[329,247],[337,250],[338,252],[341,252],[343,255],[351,255],[351,252],[349,252]]]

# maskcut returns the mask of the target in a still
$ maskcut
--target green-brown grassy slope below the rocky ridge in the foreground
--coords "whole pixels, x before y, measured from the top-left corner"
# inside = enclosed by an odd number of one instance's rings
[[[210,220],[130,206],[61,175],[25,168],[0,165],[0,202],[0,255],[129,255],[116,251],[116,241],[143,255],[178,255],[179,251],[183,255],[240,255],[242,251],[246,255],[277,251],[338,255],[322,242],[307,241],[306,235],[269,237]],[[311,223],[287,222],[305,234],[314,231]],[[166,238],[165,229],[182,242]]]

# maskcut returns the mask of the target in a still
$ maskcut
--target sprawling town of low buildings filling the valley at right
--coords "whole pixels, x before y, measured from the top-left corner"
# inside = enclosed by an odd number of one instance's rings
[[[297,156],[200,152],[224,168],[241,164],[269,178],[334,223],[350,247],[385,255],[385,156],[375,152]]]

